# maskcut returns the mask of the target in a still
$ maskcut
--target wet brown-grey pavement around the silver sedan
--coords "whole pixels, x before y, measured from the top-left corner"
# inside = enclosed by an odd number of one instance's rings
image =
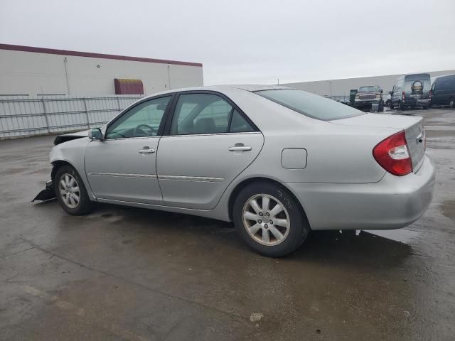
[[[216,220],[31,205],[53,137],[0,141],[0,340],[454,340],[455,111],[412,114],[437,164],[425,215],[282,259]]]

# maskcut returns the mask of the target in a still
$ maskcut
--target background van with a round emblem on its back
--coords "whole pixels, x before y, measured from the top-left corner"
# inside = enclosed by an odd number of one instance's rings
[[[429,73],[414,73],[397,78],[390,93],[390,109],[429,107],[429,90],[431,87]]]

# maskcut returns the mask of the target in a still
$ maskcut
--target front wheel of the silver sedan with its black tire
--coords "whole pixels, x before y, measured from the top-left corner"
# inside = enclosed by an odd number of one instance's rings
[[[58,168],[53,181],[55,195],[65,212],[70,215],[85,215],[92,210],[93,204],[87,195],[85,185],[73,166],[65,165]]]

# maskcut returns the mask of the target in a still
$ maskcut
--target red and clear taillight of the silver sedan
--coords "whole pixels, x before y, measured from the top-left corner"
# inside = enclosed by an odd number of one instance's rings
[[[387,137],[373,148],[375,160],[387,172],[402,176],[412,172],[410,150],[407,148],[405,131]]]

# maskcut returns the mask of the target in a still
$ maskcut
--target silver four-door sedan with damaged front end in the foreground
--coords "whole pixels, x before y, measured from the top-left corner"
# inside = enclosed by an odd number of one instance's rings
[[[107,202],[234,221],[267,256],[311,230],[405,227],[434,187],[422,117],[286,87],[161,92],[55,143],[50,189],[70,215]]]

